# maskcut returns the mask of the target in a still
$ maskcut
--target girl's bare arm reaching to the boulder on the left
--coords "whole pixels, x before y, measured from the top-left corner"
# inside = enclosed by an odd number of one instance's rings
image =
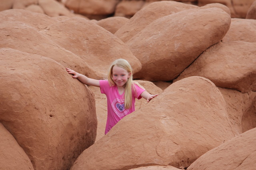
[[[93,79],[93,78],[88,78],[83,74],[79,74],[78,72],[75,72],[74,70],[71,70],[70,68],[66,68],[67,72],[69,74],[73,74],[73,78],[77,78],[80,82],[89,85],[89,86],[96,86],[100,87],[100,81]]]

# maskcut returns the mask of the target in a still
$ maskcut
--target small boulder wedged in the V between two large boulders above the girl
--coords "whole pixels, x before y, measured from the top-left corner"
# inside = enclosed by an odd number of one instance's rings
[[[97,25],[105,28],[112,34],[114,34],[120,27],[122,27],[129,19],[125,17],[109,17],[106,19],[102,19],[100,21],[96,21]]]

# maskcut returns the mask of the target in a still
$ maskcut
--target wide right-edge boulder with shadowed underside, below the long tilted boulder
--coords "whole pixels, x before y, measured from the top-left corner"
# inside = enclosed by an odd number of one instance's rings
[[[256,90],[256,43],[220,42],[200,55],[180,76],[208,78],[218,87],[240,92]]]

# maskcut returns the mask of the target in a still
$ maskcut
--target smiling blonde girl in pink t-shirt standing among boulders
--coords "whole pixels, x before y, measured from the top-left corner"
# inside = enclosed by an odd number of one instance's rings
[[[80,82],[100,87],[100,92],[106,95],[108,116],[105,135],[124,116],[135,111],[135,98],[144,98],[149,102],[158,96],[158,94],[149,94],[140,84],[132,80],[132,67],[124,59],[118,59],[111,64],[108,70],[108,80],[88,78],[70,68],[66,70]]]

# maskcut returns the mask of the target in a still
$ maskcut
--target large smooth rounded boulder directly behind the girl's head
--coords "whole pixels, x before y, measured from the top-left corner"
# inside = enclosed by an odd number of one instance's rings
[[[89,20],[70,18],[50,25],[42,32],[61,47],[81,57],[94,71],[94,76],[90,78],[106,78],[110,64],[120,58],[129,61],[134,73],[141,69],[140,61],[126,44]]]

